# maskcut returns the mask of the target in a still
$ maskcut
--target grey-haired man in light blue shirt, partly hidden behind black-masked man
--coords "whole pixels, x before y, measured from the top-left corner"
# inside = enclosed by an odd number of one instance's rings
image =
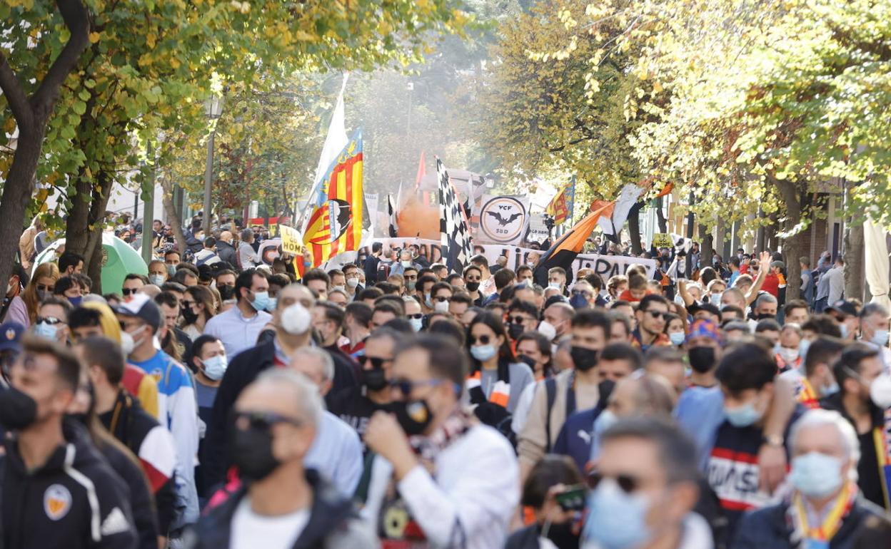
[[[331,391],[334,359],[318,347],[301,347],[290,357],[290,369],[306,375],[324,397]],[[362,476],[362,443],[359,435],[338,416],[323,410],[315,440],[304,459],[330,480],[343,496],[352,496]]]

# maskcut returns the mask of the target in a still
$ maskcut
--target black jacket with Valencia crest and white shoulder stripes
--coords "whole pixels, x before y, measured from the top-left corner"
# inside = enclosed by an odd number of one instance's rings
[[[84,427],[63,425],[66,444],[27,471],[18,440],[0,458],[0,532],[4,549],[135,549],[130,490],[89,440]]]

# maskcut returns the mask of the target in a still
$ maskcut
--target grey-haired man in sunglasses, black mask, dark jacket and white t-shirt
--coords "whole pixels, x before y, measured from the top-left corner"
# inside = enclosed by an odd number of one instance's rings
[[[289,369],[264,372],[241,392],[230,447],[242,480],[202,518],[186,546],[377,547],[348,497],[306,464],[325,429],[318,388]]]

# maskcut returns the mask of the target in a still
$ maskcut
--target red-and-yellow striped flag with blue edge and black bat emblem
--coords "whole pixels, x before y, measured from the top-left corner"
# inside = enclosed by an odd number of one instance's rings
[[[356,131],[310,197],[303,242],[313,254],[313,267],[344,252],[355,252],[364,224],[362,130]]]

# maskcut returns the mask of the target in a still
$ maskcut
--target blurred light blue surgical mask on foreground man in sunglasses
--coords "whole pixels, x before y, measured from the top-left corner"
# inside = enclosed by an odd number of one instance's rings
[[[646,515],[650,501],[642,494],[626,494],[616,480],[603,479],[588,497],[585,542],[602,549],[632,549],[652,537]]]

